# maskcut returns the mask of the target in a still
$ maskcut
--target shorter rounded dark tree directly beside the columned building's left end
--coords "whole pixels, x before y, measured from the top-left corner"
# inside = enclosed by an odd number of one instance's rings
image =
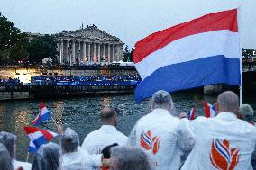
[[[56,63],[58,55],[57,43],[52,36],[46,35],[30,41],[29,61],[35,64],[41,63],[42,58],[50,58],[53,64]]]

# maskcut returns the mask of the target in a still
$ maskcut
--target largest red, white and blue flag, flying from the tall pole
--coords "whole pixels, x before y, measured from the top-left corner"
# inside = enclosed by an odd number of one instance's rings
[[[240,85],[239,43],[237,9],[206,14],[138,41],[133,62],[142,82],[135,101],[158,90]]]

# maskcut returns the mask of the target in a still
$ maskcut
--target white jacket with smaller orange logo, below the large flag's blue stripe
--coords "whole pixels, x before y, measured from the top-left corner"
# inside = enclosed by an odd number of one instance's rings
[[[179,119],[167,110],[154,109],[143,116],[129,136],[129,144],[142,148],[156,170],[178,170],[181,151],[178,145]]]

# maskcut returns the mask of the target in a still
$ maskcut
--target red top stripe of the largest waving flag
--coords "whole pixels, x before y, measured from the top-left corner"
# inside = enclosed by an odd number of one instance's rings
[[[154,51],[163,48],[170,42],[189,35],[208,31],[230,30],[238,32],[237,9],[206,14],[190,22],[178,24],[169,29],[155,32],[136,43],[133,62],[138,63]]]

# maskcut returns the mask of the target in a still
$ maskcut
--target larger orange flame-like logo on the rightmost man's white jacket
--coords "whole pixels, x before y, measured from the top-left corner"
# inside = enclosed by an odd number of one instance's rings
[[[211,163],[219,170],[233,170],[239,162],[239,149],[229,148],[229,141],[214,139],[210,153]]]

